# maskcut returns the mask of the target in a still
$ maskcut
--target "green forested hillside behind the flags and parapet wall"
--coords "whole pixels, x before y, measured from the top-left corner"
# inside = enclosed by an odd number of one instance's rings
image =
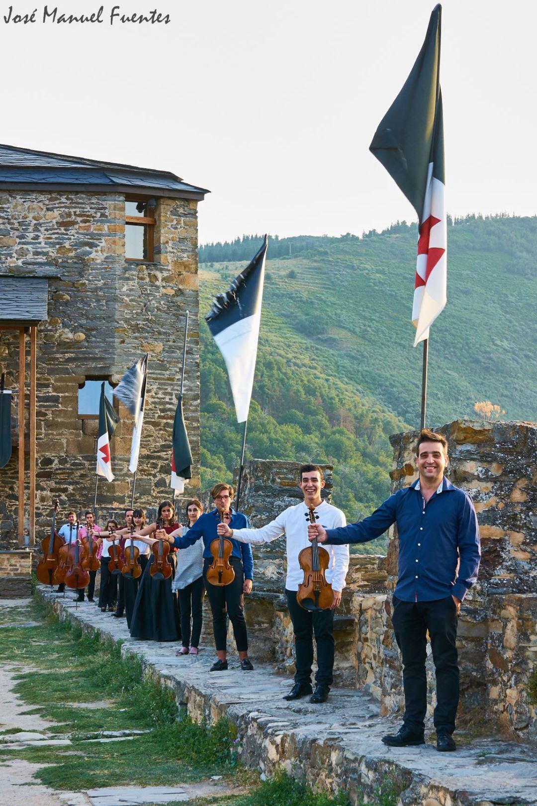
[[[244,260],[261,240],[245,239]],[[350,517],[388,490],[387,435],[419,421],[421,347],[412,347],[410,321],[416,240],[416,226],[403,222],[361,238],[269,245],[269,257],[271,247],[280,256],[266,266],[248,450],[333,461],[336,501]],[[229,260],[241,245],[212,245],[213,260],[200,265],[201,315],[245,265]],[[537,420],[535,256],[537,218],[450,222],[448,305],[430,343],[429,424],[473,416],[484,400],[505,409],[505,419]],[[237,463],[240,438],[225,365],[203,321],[200,331],[209,480]]]

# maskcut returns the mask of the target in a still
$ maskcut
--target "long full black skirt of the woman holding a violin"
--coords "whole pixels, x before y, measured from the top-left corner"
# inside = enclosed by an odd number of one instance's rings
[[[176,555],[168,555],[174,573],[167,580],[150,569],[155,558],[151,557],[143,572],[130,618],[130,635],[143,641],[179,641],[181,637],[179,605],[176,594],[171,591],[175,575]]]

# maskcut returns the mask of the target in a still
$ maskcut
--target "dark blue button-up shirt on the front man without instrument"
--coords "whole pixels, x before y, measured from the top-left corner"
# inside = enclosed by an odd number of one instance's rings
[[[450,595],[464,599],[477,580],[481,558],[476,511],[468,493],[444,479],[426,504],[417,480],[394,492],[363,521],[328,529],[326,542],[365,543],[393,523],[399,535],[394,596],[407,602]]]

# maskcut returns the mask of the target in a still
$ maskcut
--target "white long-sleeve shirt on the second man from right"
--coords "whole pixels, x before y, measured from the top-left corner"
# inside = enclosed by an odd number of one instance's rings
[[[315,509],[319,516],[317,523],[324,529],[336,529],[346,526],[345,514],[341,509],[321,501]],[[308,507],[302,501],[296,506],[287,507],[278,517],[260,529],[233,529],[233,538],[243,543],[270,543],[282,534],[287,541],[287,580],[288,591],[298,591],[299,584],[304,582],[304,571],[299,565],[299,553],[311,546],[308,540]],[[328,551],[330,561],[326,569],[326,581],[334,591],[345,588],[345,576],[349,569],[349,546],[319,546],[319,550]]]

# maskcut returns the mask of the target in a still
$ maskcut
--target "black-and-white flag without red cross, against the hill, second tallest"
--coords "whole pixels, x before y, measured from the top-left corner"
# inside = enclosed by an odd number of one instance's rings
[[[205,317],[228,368],[237,422],[247,420],[250,409],[267,246],[268,237],[265,235],[254,260],[235,277],[225,293],[213,299],[213,307]]]

